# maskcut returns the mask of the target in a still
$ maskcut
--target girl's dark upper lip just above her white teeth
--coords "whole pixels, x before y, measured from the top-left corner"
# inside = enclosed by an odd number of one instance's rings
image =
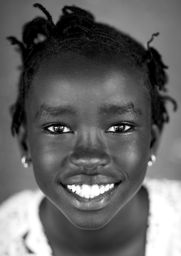
[[[88,175],[88,174],[78,174],[68,177],[66,180],[61,182],[63,185],[74,185],[74,184],[87,184],[87,185],[94,185],[94,184],[112,184],[112,183],[119,183],[121,180],[115,177],[95,174],[95,175]]]

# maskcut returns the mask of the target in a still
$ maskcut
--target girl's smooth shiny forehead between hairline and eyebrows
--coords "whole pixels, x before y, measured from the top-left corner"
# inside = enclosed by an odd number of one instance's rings
[[[30,88],[33,106],[75,106],[96,111],[106,104],[149,105],[138,70],[107,56],[58,56],[44,61]],[[31,97],[32,96],[32,97]],[[78,103],[77,103],[78,102]],[[132,105],[133,106],[133,105]]]

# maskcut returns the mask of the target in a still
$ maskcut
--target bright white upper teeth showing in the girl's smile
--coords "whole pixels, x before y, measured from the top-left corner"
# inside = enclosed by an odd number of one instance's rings
[[[98,185],[94,184],[92,186],[84,184],[84,185],[67,185],[68,189],[71,189],[73,192],[78,194],[79,196],[85,198],[93,198],[100,194],[103,194],[105,191],[112,189],[114,184],[104,184]]]

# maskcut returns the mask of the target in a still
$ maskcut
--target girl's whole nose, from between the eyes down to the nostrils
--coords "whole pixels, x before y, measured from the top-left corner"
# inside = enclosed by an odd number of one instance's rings
[[[102,139],[96,132],[90,131],[79,136],[69,160],[72,164],[85,169],[95,169],[110,163]]]

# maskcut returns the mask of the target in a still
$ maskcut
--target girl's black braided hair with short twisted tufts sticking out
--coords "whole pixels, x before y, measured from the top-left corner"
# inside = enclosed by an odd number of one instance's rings
[[[25,99],[41,61],[48,56],[57,56],[58,53],[65,52],[76,52],[86,56],[106,53],[134,62],[149,81],[152,122],[157,124],[160,130],[164,123],[169,122],[166,102],[171,101],[174,110],[177,104],[171,97],[161,94],[166,91],[167,66],[162,62],[161,55],[150,47],[150,43],[159,33],[152,35],[145,49],[123,32],[95,22],[92,14],[76,6],[64,6],[63,15],[57,24],[54,24],[50,13],[41,4],[33,6],[38,7],[46,15],[46,19],[36,17],[25,24],[23,42],[12,36],[7,38],[12,45],[19,46],[22,58],[19,94],[15,104],[11,106],[13,135],[18,133],[21,123],[25,122]]]

